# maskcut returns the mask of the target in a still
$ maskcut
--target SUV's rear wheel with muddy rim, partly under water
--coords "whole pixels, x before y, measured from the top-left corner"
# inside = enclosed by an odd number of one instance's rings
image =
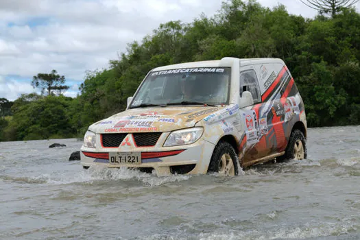
[[[304,134],[298,129],[293,130],[290,135],[289,143],[285,149],[285,154],[280,160],[296,159],[302,160],[307,158],[307,145]]]

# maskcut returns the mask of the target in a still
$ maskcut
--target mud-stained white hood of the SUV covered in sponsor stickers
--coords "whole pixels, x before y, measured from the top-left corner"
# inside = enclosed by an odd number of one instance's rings
[[[170,132],[191,128],[221,107],[187,106],[166,108],[134,108],[94,123],[89,130],[96,133]]]

